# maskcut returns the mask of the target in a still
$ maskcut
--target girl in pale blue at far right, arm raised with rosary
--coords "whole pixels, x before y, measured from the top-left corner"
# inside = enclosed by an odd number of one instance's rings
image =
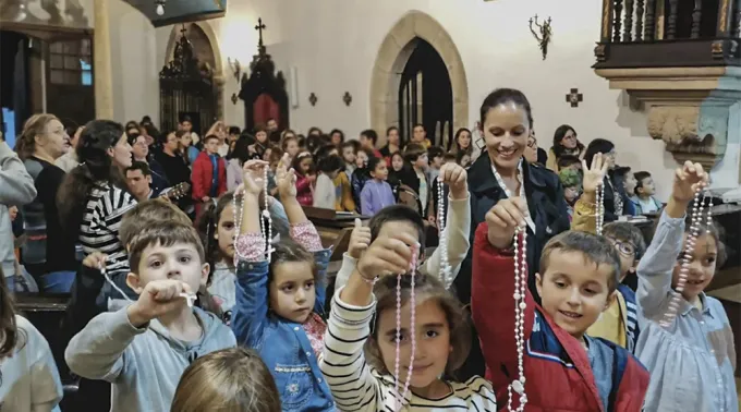
[[[636,173],[637,174],[637,173]],[[695,189],[707,182],[703,167],[685,162],[675,173],[669,203],[661,213],[646,255],[639,264],[639,307],[643,328],[635,353],[651,371],[646,411],[738,411],[733,369],[733,334],[724,306],[704,293],[722,265],[724,250],[705,214],[691,256],[684,259]],[[677,291],[682,266],[684,290]],[[667,328],[658,322],[680,293],[677,317]]]

